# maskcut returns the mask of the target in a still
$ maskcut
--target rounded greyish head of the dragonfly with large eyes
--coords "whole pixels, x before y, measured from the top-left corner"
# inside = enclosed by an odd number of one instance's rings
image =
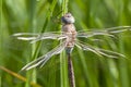
[[[74,17],[72,16],[71,13],[67,13],[61,17],[61,22],[63,24],[72,24],[75,22]]]

